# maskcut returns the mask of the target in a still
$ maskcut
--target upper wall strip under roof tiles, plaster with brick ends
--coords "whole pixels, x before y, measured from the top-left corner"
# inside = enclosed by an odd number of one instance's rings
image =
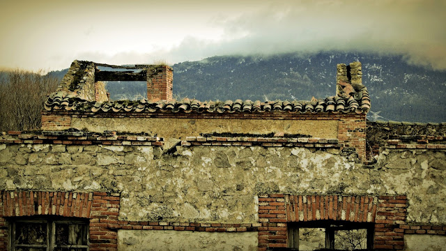
[[[60,116],[60,119],[59,119]],[[70,116],[70,125],[60,123]],[[257,113],[87,113],[43,112],[43,130],[89,130],[104,132],[145,132],[166,139],[185,139],[203,134],[274,134],[307,135],[307,137],[339,139],[342,147],[353,148],[364,160],[366,114],[294,114],[289,112]],[[169,125],[169,126],[166,126]]]

